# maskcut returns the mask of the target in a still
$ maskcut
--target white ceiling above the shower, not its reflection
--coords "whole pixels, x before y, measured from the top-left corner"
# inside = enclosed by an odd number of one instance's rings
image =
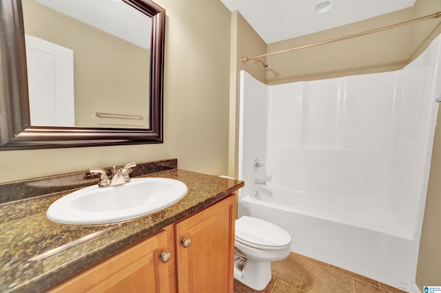
[[[269,44],[408,8],[416,0],[220,1],[230,11],[238,10],[263,41]],[[320,2],[331,3],[331,8],[323,13],[314,12],[314,6]],[[318,8],[320,5],[325,6],[325,3],[319,4]]]

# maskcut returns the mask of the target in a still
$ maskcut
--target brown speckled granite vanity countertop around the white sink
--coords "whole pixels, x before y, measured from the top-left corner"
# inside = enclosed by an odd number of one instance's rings
[[[52,202],[72,191],[0,204],[0,292],[41,292],[244,185],[180,169],[142,177],[180,180],[188,193],[152,215],[94,226],[57,224],[45,216]]]

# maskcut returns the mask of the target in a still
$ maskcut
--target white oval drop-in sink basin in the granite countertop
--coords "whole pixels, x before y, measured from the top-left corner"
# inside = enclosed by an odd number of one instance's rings
[[[50,205],[46,215],[62,224],[108,224],[155,213],[187,194],[183,182],[169,178],[134,178],[112,187],[89,186]]]

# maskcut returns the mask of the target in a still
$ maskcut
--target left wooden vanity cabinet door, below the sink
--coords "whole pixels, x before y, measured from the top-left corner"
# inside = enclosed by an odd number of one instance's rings
[[[170,232],[173,235],[172,228],[161,230],[53,287],[50,292],[172,292],[174,285],[169,283],[169,278],[174,278],[174,255],[167,263],[160,257],[161,252],[167,250]]]

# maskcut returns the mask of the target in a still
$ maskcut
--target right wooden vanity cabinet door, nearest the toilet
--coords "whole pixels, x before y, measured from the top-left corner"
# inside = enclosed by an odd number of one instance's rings
[[[175,225],[178,292],[233,292],[234,219],[230,195]]]

